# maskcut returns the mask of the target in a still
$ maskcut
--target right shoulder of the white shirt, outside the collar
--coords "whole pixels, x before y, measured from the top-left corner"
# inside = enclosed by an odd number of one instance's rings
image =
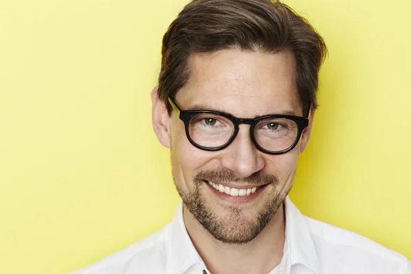
[[[401,254],[369,238],[346,229],[304,217],[316,247],[317,256],[325,265],[340,265],[341,273],[411,274],[410,262]],[[352,269],[351,269],[352,268]]]

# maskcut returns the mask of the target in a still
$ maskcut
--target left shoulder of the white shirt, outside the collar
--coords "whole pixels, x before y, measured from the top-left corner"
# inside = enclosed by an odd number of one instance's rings
[[[165,229],[71,274],[123,274],[134,273],[136,269],[162,273],[165,268]]]

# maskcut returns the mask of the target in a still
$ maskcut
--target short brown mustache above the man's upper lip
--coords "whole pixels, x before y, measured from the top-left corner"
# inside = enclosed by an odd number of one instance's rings
[[[201,184],[203,180],[212,182],[242,182],[243,184],[279,184],[278,177],[273,174],[257,171],[249,177],[240,177],[229,169],[207,169],[199,171],[193,176],[192,180],[197,185]]]

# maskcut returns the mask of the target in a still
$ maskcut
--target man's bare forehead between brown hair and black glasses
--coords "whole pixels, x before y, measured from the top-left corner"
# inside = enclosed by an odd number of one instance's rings
[[[282,112],[301,115],[290,51],[226,49],[194,54],[188,66],[188,83],[176,96],[183,110],[200,107],[242,118]]]

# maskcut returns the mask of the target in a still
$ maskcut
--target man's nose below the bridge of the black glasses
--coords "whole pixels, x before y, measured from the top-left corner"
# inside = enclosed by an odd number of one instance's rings
[[[221,155],[221,165],[240,177],[249,177],[264,168],[264,159],[251,140],[249,130],[249,125],[239,125],[236,138]]]

